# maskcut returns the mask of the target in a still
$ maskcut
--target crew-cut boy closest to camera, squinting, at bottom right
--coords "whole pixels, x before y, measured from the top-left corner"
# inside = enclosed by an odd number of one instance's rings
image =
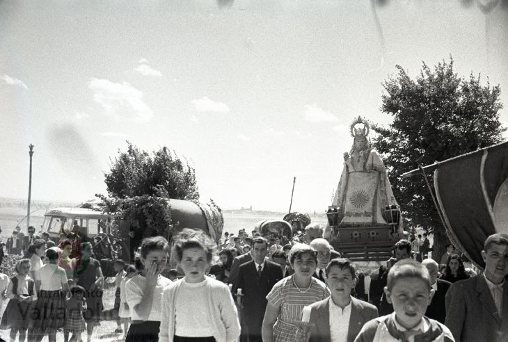
[[[450,329],[424,317],[434,289],[429,271],[421,263],[411,259],[395,263],[388,272],[384,291],[395,312],[367,322],[356,342],[454,341]]]

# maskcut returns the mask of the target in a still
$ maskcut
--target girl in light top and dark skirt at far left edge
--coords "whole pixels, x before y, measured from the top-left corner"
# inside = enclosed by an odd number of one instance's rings
[[[9,302],[0,324],[0,329],[10,328],[10,341],[16,341],[19,332],[19,341],[26,338],[26,329],[29,327],[30,310],[34,300],[37,300],[34,282],[29,277],[30,259],[17,261],[15,270],[17,275],[10,279],[6,296]]]

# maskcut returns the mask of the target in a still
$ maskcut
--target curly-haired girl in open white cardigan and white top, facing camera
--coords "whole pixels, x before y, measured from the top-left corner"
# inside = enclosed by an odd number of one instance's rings
[[[205,276],[214,242],[193,229],[184,229],[175,241],[175,257],[185,277],[164,290],[159,341],[237,341],[240,323],[228,285]]]

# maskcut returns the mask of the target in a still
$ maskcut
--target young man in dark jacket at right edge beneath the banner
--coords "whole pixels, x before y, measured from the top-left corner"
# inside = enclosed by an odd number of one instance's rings
[[[450,286],[445,325],[455,341],[508,341],[508,234],[486,238],[483,273]]]

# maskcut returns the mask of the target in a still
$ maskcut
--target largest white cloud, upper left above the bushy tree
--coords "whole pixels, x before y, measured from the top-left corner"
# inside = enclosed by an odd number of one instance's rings
[[[153,116],[152,110],[143,101],[143,92],[127,82],[91,79],[88,89],[93,90],[93,101],[116,120],[149,122]]]

